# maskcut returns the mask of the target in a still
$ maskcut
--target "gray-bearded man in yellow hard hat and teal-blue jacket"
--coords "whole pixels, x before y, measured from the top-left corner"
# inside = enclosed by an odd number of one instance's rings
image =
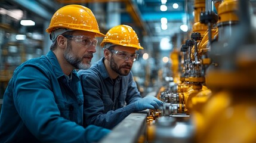
[[[85,126],[75,69],[90,67],[95,36],[104,35],[82,5],[57,10],[47,32],[53,42],[48,54],[18,66],[5,91],[0,142],[97,142],[110,130]]]

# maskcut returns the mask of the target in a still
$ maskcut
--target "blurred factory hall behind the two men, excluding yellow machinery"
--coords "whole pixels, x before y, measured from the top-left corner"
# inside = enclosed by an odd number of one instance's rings
[[[169,54],[192,28],[192,0],[1,0],[0,98],[19,64],[48,52],[51,41],[45,29],[54,12],[68,4],[90,8],[103,33],[118,24],[128,24],[137,32],[144,50],[132,71],[144,94],[152,91],[159,73],[170,74]],[[98,45],[93,61],[102,53]]]

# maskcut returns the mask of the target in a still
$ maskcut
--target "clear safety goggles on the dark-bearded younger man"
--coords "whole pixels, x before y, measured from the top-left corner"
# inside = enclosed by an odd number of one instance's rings
[[[118,51],[118,50],[115,50],[115,49],[110,50],[110,52],[112,52],[116,57],[120,58],[121,60],[126,61],[129,58],[131,58],[132,61],[138,60],[138,54],[137,53],[130,54],[128,52]]]

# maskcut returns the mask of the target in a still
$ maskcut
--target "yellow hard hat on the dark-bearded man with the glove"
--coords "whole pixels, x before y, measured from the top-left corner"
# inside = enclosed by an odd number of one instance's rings
[[[103,41],[100,43],[104,46],[107,43],[112,43],[113,45],[128,46],[131,48],[143,49],[138,42],[138,36],[131,26],[119,25],[112,27]]]

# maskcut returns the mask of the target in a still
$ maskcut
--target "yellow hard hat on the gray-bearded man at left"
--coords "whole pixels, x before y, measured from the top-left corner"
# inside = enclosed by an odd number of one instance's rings
[[[83,30],[95,33],[95,36],[105,36],[100,33],[97,20],[92,11],[82,5],[66,5],[57,10],[53,14],[46,31],[52,34],[57,29]]]

